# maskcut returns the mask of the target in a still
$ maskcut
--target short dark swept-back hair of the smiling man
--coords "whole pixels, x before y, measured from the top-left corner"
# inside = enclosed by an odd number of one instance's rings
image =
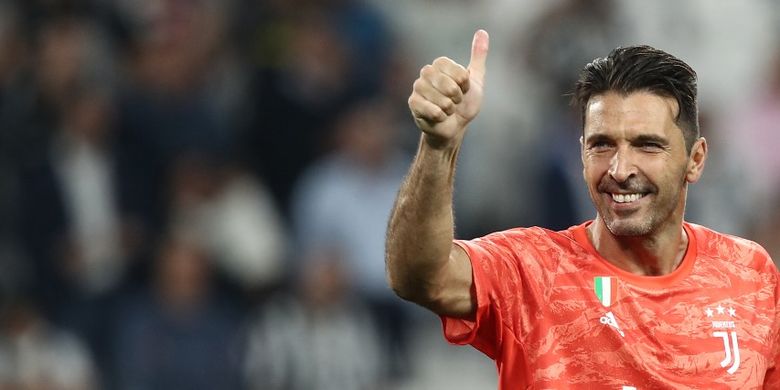
[[[574,86],[572,103],[580,109],[583,127],[590,98],[610,91],[624,95],[647,91],[675,98],[679,106],[675,123],[690,153],[700,133],[696,72],[688,64],[646,45],[618,47],[606,58],[596,58],[585,65]]]

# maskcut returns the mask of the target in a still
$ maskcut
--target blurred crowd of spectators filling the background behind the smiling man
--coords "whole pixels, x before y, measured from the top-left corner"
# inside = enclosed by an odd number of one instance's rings
[[[384,234],[419,137],[411,82],[448,53],[417,58],[427,27],[399,20],[489,7],[419,3],[0,0],[0,389],[412,381],[417,312],[387,287]],[[459,235],[592,218],[564,94],[626,44],[615,8],[559,1],[504,36],[534,98],[475,124],[523,135],[467,141]],[[773,44],[731,121],[701,107],[717,157],[689,214],[780,259]]]

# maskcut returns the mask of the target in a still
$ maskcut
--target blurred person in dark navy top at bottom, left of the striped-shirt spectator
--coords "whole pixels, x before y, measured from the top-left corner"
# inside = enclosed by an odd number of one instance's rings
[[[173,230],[163,241],[149,288],[117,307],[114,389],[235,389],[239,317],[213,290],[203,248]]]

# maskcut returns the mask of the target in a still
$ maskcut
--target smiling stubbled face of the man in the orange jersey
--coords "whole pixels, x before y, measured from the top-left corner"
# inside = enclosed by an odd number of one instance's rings
[[[682,220],[686,182],[698,179],[698,170],[691,174],[677,110],[675,99],[650,92],[608,92],[588,102],[583,174],[612,234],[647,235]]]

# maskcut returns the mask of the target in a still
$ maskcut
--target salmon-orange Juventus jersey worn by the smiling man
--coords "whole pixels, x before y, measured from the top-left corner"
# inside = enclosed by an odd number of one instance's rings
[[[591,222],[456,241],[471,258],[473,319],[444,334],[496,361],[509,389],[780,389],[778,271],[759,245],[684,223],[664,276],[631,274],[590,243]]]

